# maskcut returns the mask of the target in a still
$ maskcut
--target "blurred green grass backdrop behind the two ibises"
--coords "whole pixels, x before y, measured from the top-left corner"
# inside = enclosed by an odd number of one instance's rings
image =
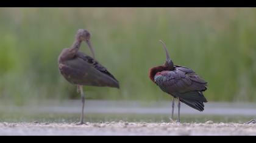
[[[79,99],[57,65],[79,28],[121,86],[85,87],[88,99],[170,100],[148,78],[165,61],[162,39],[208,81],[208,101],[256,101],[256,8],[0,8],[0,21],[1,101]]]

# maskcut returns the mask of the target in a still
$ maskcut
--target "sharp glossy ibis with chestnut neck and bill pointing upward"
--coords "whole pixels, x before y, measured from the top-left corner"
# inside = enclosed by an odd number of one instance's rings
[[[166,53],[165,64],[151,68],[149,78],[164,92],[173,96],[171,119],[173,119],[174,113],[174,99],[178,99],[177,122],[180,122],[180,102],[196,110],[204,110],[204,102],[207,102],[207,99],[202,92],[207,90],[207,82],[199,78],[190,68],[174,65],[165,43],[162,42],[162,44]]]

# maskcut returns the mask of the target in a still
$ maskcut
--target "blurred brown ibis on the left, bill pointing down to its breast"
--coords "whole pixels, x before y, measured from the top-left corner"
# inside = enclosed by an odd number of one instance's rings
[[[82,112],[79,124],[84,124],[85,94],[83,85],[119,88],[119,83],[115,77],[94,59],[90,37],[91,35],[87,30],[79,29],[74,44],[71,48],[63,49],[58,59],[60,73],[68,82],[77,85],[77,91],[80,91],[81,94]],[[79,52],[82,41],[87,42],[93,58]]]

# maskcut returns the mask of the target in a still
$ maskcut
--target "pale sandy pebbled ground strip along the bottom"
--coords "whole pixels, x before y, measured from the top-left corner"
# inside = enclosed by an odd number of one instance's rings
[[[104,122],[76,125],[71,123],[0,123],[0,135],[256,135],[256,124],[236,123],[147,123]]]

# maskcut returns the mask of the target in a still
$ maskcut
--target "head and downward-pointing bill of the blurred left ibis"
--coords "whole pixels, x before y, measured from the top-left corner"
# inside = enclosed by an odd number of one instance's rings
[[[91,45],[91,41],[90,41],[90,39],[91,39],[90,32],[88,32],[85,29],[79,29],[77,31],[77,33],[76,33],[76,39],[78,41],[85,41],[85,42],[87,42],[87,45],[90,48],[91,53],[93,54],[93,58],[94,58],[94,50],[93,50],[93,46]]]

